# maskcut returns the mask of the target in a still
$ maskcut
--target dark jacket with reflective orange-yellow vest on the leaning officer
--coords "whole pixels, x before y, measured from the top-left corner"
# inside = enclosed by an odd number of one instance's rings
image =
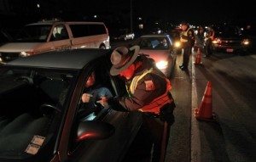
[[[147,57],[142,60],[142,63],[131,80],[125,81],[129,95],[108,100],[112,109],[118,111],[138,110],[159,115],[162,106],[172,103],[169,80]]]

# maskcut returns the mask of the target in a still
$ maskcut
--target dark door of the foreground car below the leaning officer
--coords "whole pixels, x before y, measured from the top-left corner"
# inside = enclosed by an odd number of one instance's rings
[[[113,92],[113,96],[116,96],[119,95],[117,92],[121,93],[124,89],[121,87],[123,84],[118,84],[120,81],[110,77],[107,62],[109,61],[104,59],[98,60],[97,64],[84,70],[84,73],[90,74],[88,71],[96,70],[96,79],[100,80],[100,84],[104,87],[108,87]],[[111,106],[110,109],[102,109],[95,117],[88,118],[88,120],[100,120],[111,124],[115,128],[113,136],[104,140],[88,140],[79,143],[73,143],[74,140],[71,138],[70,161],[119,161],[136,136],[141,119],[141,114],[138,112],[119,112],[111,109]]]

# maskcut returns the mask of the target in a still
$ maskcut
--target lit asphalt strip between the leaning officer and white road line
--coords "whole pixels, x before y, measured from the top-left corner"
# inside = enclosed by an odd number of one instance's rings
[[[171,127],[166,150],[166,161],[173,162],[190,161],[191,62],[189,71],[179,69],[182,62],[183,54],[179,53],[171,77],[171,92],[176,109],[174,110],[175,123]]]

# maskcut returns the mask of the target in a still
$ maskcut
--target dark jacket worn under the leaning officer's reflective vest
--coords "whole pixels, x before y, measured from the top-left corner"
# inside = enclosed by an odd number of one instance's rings
[[[156,69],[150,59],[143,58],[142,62],[142,66],[137,69],[135,75],[131,78],[131,80],[137,75],[142,75],[145,70],[149,70],[150,68],[154,68],[154,72],[156,72],[157,75],[155,73],[149,73],[143,76],[143,78],[138,81],[137,87],[132,96],[114,98],[110,105],[112,105],[113,103],[118,103],[122,105],[122,108],[120,108],[120,106],[113,106],[113,109],[126,111],[138,110],[143,108],[144,105],[151,103],[154,98],[158,98],[166,92],[166,76],[162,72],[160,72],[160,70]],[[147,89],[145,81],[153,82],[153,90]],[[126,87],[129,88],[131,85],[131,81],[126,81],[125,84]],[[170,97],[172,98],[172,95],[170,95]]]

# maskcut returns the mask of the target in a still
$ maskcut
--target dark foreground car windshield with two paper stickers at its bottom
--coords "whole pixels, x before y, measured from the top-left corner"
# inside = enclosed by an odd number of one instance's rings
[[[39,161],[41,152],[48,161],[74,78],[63,70],[0,69],[0,161]]]

